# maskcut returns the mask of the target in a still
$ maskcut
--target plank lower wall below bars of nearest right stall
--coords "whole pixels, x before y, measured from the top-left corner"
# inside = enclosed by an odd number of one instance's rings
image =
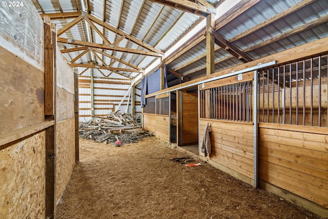
[[[259,178],[327,208],[327,129],[260,123]]]

